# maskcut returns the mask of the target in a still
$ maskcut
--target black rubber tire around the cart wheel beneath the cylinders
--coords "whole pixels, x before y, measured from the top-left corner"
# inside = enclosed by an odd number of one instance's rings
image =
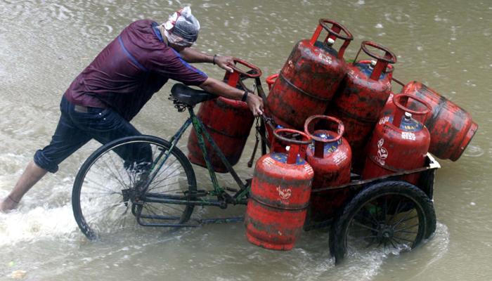
[[[415,185],[405,181],[383,181],[370,185],[359,192],[348,204],[344,206],[343,211],[335,217],[330,231],[330,254],[335,257],[335,263],[344,260],[347,253],[347,230],[351,220],[357,212],[368,202],[384,195],[403,195],[410,198],[420,206],[425,219],[425,229],[419,231],[413,248],[417,247],[422,240],[429,238],[436,230],[436,214],[432,201],[427,197],[425,192]]]

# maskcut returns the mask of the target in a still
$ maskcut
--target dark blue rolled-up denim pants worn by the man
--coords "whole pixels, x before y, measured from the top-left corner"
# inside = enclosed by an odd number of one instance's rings
[[[127,120],[110,108],[80,107],[69,103],[63,96],[60,103],[61,116],[51,143],[34,154],[34,163],[55,173],[60,164],[73,152],[92,138],[100,143],[108,143],[125,136],[141,133]]]

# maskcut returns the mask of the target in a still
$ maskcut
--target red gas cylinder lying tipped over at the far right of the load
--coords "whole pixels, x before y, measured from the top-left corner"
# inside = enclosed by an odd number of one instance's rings
[[[455,103],[417,81],[403,86],[401,93],[425,100],[432,108],[432,114],[425,121],[425,126],[431,134],[429,152],[441,159],[458,160],[478,129],[472,116]],[[408,107],[419,110],[422,105],[411,101]]]

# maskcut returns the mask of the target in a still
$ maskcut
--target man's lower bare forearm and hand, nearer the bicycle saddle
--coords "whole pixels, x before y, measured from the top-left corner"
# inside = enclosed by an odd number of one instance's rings
[[[241,100],[245,94],[245,91],[236,89],[222,81],[210,77],[207,78],[205,82],[200,84],[200,88],[209,93],[214,93],[218,96],[231,98],[233,100]],[[259,116],[263,114],[263,100],[261,100],[259,96],[254,95],[254,93],[248,93],[246,103],[248,107],[250,107],[250,110],[251,112],[253,112],[254,116]]]

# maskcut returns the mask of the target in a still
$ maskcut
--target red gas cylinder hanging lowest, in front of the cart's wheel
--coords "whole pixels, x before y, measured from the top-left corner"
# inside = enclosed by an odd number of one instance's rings
[[[286,138],[286,133],[301,139]],[[254,168],[246,236],[260,247],[290,250],[302,231],[309,204],[314,172],[304,157],[311,138],[292,129],[276,129],[274,136],[271,153],[258,159]]]

